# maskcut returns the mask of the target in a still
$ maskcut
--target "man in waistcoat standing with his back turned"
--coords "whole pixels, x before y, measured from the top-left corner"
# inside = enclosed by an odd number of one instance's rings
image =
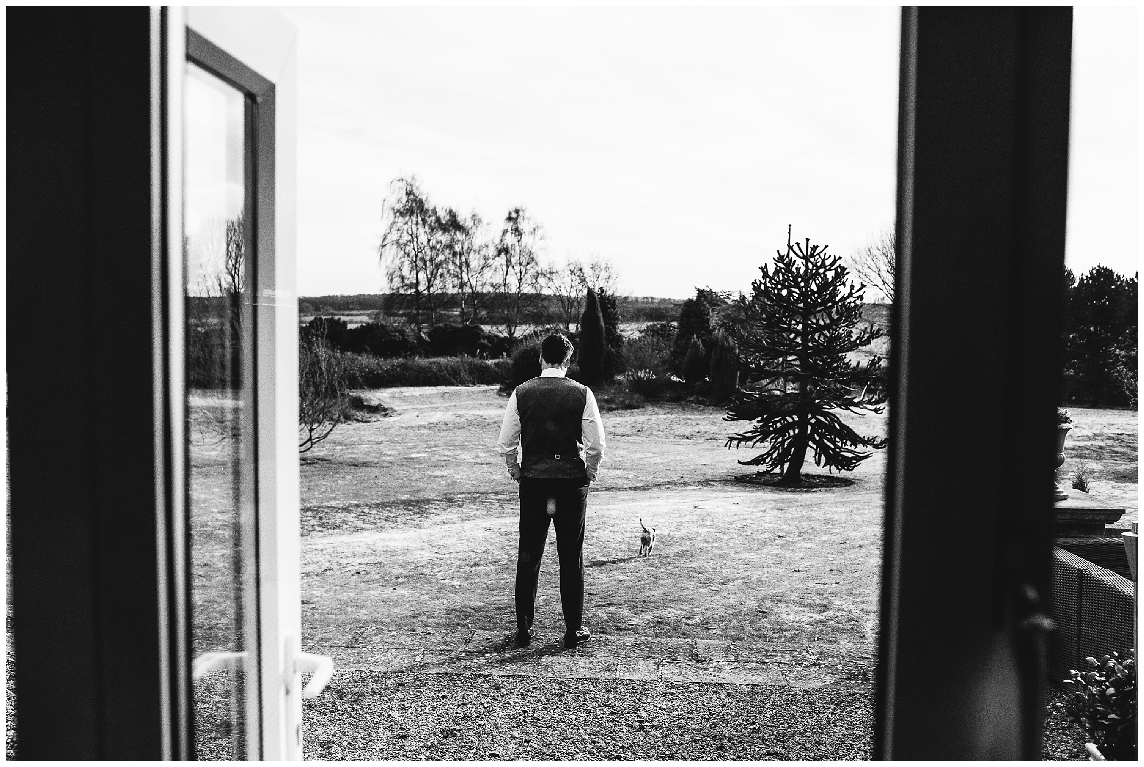
[[[565,378],[572,342],[549,335],[540,346],[540,378],[508,398],[496,450],[521,483],[521,543],[516,561],[516,643],[532,642],[540,558],[548,520],[561,559],[564,647],[591,636],[583,626],[583,530],[588,484],[604,452],[604,424],[591,389]],[[519,459],[517,443],[519,442]]]

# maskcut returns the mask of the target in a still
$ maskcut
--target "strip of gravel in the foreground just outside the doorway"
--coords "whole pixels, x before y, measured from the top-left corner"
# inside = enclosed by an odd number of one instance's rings
[[[869,759],[873,696],[817,689],[344,672],[307,759]]]

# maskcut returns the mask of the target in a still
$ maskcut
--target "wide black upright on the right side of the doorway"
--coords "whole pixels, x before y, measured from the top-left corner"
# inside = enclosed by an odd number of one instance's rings
[[[903,18],[877,756],[1038,759],[1072,9]]]

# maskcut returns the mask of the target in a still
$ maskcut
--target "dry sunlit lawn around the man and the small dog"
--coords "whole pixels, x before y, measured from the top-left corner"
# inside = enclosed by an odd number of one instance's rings
[[[587,661],[543,653],[542,662],[527,654],[475,659],[501,653],[496,643],[514,627],[516,485],[493,448],[505,397],[493,387],[374,394],[394,417],[340,427],[303,457],[305,643],[339,667],[484,663],[490,673],[548,673],[557,664],[570,675],[586,673]],[[586,623],[601,641],[582,657],[606,658],[593,667],[609,675],[621,673],[620,658],[642,659],[664,678],[697,642],[736,647],[729,662],[748,664],[789,664],[825,647],[831,651],[815,664],[836,663],[827,675],[849,673],[874,649],[884,452],[849,475],[850,488],[744,485],[732,479],[753,469],[736,459],[753,452],[725,450],[726,434],[744,424],[722,414],[686,403],[604,413],[609,450],[585,543]],[[884,417],[845,418],[861,433],[884,433]],[[1097,495],[1131,500],[1125,520],[1135,519],[1127,466],[1135,471],[1136,413],[1074,409],[1073,418],[1078,436],[1066,452],[1101,461]],[[639,517],[658,531],[650,559],[636,556]],[[554,544],[550,533],[538,601],[541,647],[564,630]],[[653,649],[652,641],[667,643]],[[774,643],[793,655],[750,655]],[[716,667],[730,666],[692,675]],[[764,671],[760,678],[771,673]]]

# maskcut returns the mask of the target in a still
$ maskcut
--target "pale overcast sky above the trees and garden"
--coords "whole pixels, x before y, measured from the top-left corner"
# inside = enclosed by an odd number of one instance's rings
[[[620,288],[746,290],[787,223],[893,221],[897,8],[284,8],[299,27],[299,293],[384,290],[389,182]],[[1136,270],[1135,9],[1074,24],[1070,263]]]

